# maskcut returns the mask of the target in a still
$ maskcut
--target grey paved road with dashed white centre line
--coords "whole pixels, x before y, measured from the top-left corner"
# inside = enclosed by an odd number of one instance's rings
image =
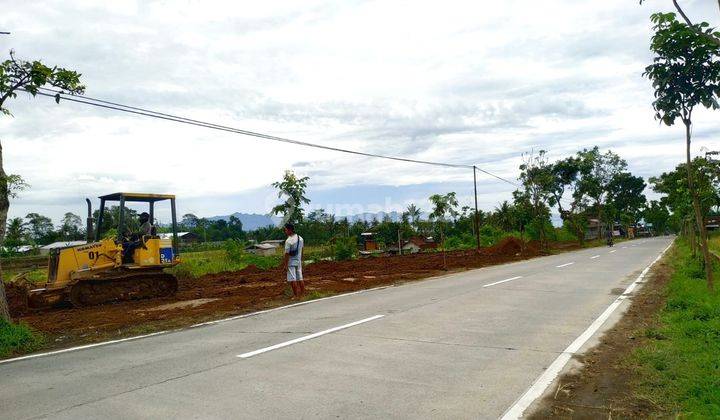
[[[635,240],[2,363],[0,416],[498,418],[669,243]]]

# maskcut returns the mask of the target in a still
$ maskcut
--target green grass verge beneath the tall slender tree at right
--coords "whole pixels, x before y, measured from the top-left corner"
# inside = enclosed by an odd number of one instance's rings
[[[720,417],[720,294],[708,293],[704,270],[678,241],[671,254],[675,272],[667,289],[660,326],[632,357],[637,387],[677,418]]]

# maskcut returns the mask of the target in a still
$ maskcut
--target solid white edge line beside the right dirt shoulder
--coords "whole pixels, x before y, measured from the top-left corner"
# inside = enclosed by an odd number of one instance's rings
[[[674,241],[673,241],[674,242]],[[511,419],[519,419],[525,410],[530,406],[530,404],[533,403],[538,397],[540,397],[547,387],[552,384],[552,382],[555,380],[555,378],[558,376],[560,371],[565,367],[567,362],[570,360],[570,358],[578,351],[580,348],[587,342],[590,337],[592,337],[599,329],[600,327],[607,321],[608,318],[610,318],[610,315],[612,315],[613,312],[620,306],[620,304],[623,302],[623,300],[627,299],[627,295],[631,293],[635,287],[642,282],[642,279],[645,278],[645,275],[650,271],[650,268],[655,265],[656,262],[660,261],[660,258],[665,254],[665,252],[670,249],[673,242],[670,242],[670,245],[668,245],[665,249],[662,250],[660,255],[658,255],[657,258],[653,262],[650,263],[645,269],[640,273],[640,275],[635,279],[634,282],[632,282],[627,289],[625,289],[625,292],[623,292],[622,295],[618,296],[617,299],[613,301],[613,303],[610,304],[610,306],[605,309],[605,311],[600,314],[600,316],[593,321],[590,326],[583,331],[582,334],[578,338],[575,339],[570,345],[560,353],[560,355],[555,359],[555,361],[552,362],[550,366],[548,366],[547,369],[545,369],[545,372],[540,375],[535,382],[530,386],[530,388],[525,391],[525,393],[518,398],[517,401],[510,407],[505,414],[501,417],[501,420],[511,420]]]

